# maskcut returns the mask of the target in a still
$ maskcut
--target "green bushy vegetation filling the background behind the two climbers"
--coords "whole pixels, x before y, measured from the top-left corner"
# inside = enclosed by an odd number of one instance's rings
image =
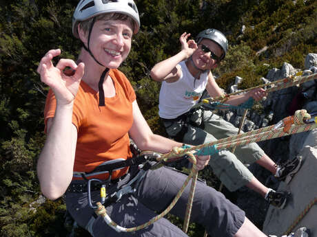
[[[30,205],[41,195],[36,164],[45,141],[43,106],[48,91],[36,69],[49,49],[61,48],[61,57],[78,55],[80,43],[71,34],[77,2],[12,0],[0,5],[0,236],[68,235],[63,199],[32,205],[36,211]],[[183,32],[195,36],[207,27],[225,32],[229,52],[214,71],[224,89],[235,76],[245,79],[243,88],[259,84],[261,76],[284,62],[303,68],[305,56],[317,52],[314,0],[136,2],[141,32],[121,70],[136,90],[145,119],[161,135],[165,131],[157,115],[160,84],[150,79],[149,72],[155,63],[178,52]],[[267,50],[257,54],[265,46]],[[212,174],[203,172],[203,177]],[[190,236],[202,233],[201,227],[191,225]]]

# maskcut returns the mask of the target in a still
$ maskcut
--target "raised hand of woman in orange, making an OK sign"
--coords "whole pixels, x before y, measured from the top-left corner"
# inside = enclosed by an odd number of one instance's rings
[[[84,64],[79,63],[79,65],[76,65],[74,60],[62,58],[55,67],[52,59],[60,54],[61,49],[51,49],[41,59],[37,72],[41,76],[41,81],[54,91],[59,103],[70,104],[74,101],[79,89],[79,83],[84,73]],[[74,73],[65,73],[66,67],[70,67],[68,71],[74,71]]]

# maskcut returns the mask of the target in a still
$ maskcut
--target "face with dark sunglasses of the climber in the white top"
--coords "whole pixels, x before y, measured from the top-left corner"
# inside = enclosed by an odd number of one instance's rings
[[[215,58],[220,58],[222,54],[223,50],[219,45],[214,43],[214,41],[203,38],[198,44],[198,49],[194,52],[192,60],[196,67],[201,70],[214,69],[218,64]]]

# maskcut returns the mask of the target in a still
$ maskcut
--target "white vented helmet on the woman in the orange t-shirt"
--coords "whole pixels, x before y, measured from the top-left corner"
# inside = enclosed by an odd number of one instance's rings
[[[79,38],[77,25],[80,21],[85,21],[91,17],[98,16],[103,13],[122,13],[132,17],[136,22],[134,34],[139,32],[140,17],[138,8],[133,0],[81,0],[74,11],[72,17],[72,34]]]

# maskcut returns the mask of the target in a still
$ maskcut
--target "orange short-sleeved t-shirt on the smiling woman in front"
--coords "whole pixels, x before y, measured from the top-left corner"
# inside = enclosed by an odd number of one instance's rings
[[[133,123],[132,102],[136,99],[129,80],[118,69],[110,69],[116,95],[105,98],[99,106],[99,92],[81,81],[74,100],[72,123],[78,131],[74,171],[90,172],[105,161],[132,157],[128,131]],[[45,131],[48,118],[54,117],[56,100],[52,90],[46,98]],[[116,170],[112,179],[125,174],[127,168]],[[94,177],[107,179],[103,177]]]

